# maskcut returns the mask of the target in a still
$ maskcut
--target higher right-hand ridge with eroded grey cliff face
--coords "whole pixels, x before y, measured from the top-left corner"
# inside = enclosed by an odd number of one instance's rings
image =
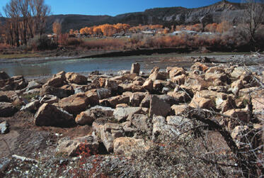
[[[185,9],[183,7],[147,9],[141,13],[126,13],[115,16],[115,18],[117,21],[132,25],[136,25],[135,23],[159,23],[163,25],[193,24],[200,23],[202,19],[205,23],[218,23],[222,18],[236,22],[239,21],[241,10],[240,4],[220,1],[217,4],[197,9]]]

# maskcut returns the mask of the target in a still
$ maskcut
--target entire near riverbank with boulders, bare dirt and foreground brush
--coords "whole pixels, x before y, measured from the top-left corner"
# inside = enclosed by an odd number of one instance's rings
[[[202,62],[41,81],[0,72],[1,176],[263,174],[263,73]]]

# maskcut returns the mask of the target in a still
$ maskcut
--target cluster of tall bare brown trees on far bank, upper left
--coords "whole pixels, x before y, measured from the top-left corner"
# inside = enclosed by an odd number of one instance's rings
[[[6,22],[2,38],[8,45],[27,45],[30,38],[45,33],[46,17],[50,12],[45,0],[11,0],[4,6]]]

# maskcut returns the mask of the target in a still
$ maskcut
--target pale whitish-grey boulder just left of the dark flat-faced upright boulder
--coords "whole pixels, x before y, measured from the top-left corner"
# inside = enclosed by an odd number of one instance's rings
[[[125,121],[130,114],[141,113],[142,109],[139,107],[116,108],[113,116],[117,121]]]

